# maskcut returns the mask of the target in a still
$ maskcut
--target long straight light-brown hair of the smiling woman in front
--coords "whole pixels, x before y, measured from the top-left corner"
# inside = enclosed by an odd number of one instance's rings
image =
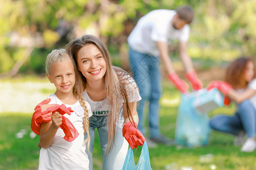
[[[69,44],[66,47],[68,54],[75,60],[77,68],[79,67],[77,63],[77,53],[86,44],[96,45],[97,48],[102,53],[102,55],[104,56],[104,59],[106,61],[106,74],[104,75],[105,76],[105,97],[108,98],[110,103],[109,105],[110,113],[108,114],[108,120],[107,120],[108,121],[108,146],[106,149],[106,154],[109,154],[110,150],[114,145],[115,128],[118,123],[119,114],[123,113],[122,112],[123,104],[121,102],[121,99],[123,99],[125,102],[125,107],[127,109],[129,120],[133,121],[133,117],[131,116],[132,113],[129,107],[129,100],[128,100],[128,94],[127,94],[127,88],[126,88],[127,87],[126,85],[128,83],[133,83],[133,82],[132,80],[129,80],[130,76],[128,75],[128,73],[126,73],[124,70],[118,67],[112,66],[108,49],[100,39],[92,35],[84,35],[78,39],[75,39],[69,42]],[[86,78],[84,77],[84,75],[82,75],[81,72],[80,72],[80,76],[81,76],[82,86],[78,88],[80,88],[80,91],[82,92],[86,88],[85,87]]]

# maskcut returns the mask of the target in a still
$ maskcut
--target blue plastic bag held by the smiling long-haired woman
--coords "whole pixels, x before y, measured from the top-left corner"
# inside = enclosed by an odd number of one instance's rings
[[[143,144],[137,165],[134,162],[133,150],[129,148],[122,170],[152,170],[146,141]]]

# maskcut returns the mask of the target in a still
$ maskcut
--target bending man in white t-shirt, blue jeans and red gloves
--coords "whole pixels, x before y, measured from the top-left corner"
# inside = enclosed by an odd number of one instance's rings
[[[168,44],[172,40],[179,40],[179,56],[186,70],[186,76],[192,84],[193,90],[202,88],[192,66],[191,58],[186,48],[189,38],[189,25],[193,20],[193,10],[189,6],[182,6],[174,10],[154,10],[139,19],[128,37],[130,66],[138,84],[142,100],[138,106],[138,129],[144,134],[143,112],[144,103],[149,101],[148,122],[151,141],[169,144],[159,132],[159,98],[161,94],[161,76],[159,63],[162,62],[168,73],[168,78],[183,92],[188,92],[188,84],[179,79],[172,66],[168,54]]]

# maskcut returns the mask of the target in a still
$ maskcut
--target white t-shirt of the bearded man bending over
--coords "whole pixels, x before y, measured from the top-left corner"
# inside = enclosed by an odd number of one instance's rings
[[[177,14],[174,10],[153,10],[139,19],[133,31],[130,33],[128,44],[140,53],[151,53],[159,56],[156,42],[167,42],[173,40],[187,42],[189,38],[189,25],[186,24],[182,29],[175,29],[172,26],[172,19]]]

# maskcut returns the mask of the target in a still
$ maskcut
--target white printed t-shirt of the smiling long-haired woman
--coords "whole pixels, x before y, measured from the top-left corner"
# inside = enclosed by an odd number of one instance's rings
[[[134,79],[132,79],[130,76],[126,77],[129,79],[130,83],[126,86],[126,92],[127,92],[127,98],[129,100],[129,103],[133,103],[135,101],[141,100],[141,96],[139,95],[139,90],[137,87],[137,84],[135,83]],[[88,101],[90,104],[90,107],[92,108],[92,114],[94,116],[106,116],[110,112],[110,102],[109,99],[106,98],[101,101],[93,101],[88,96],[86,90],[84,91],[84,100]],[[120,104],[123,104],[124,101],[122,97],[120,98]],[[123,116],[119,115],[119,123],[123,123]]]

